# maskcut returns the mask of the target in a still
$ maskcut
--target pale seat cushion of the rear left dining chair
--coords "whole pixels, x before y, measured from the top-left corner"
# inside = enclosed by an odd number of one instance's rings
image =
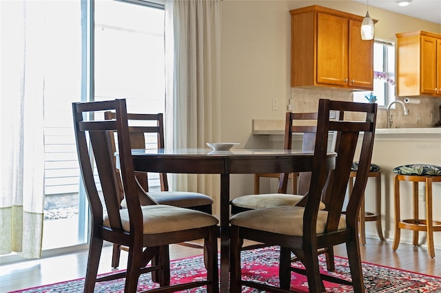
[[[155,191],[148,192],[148,195],[158,204],[168,206],[179,206],[181,208],[191,208],[193,206],[207,206],[213,204],[213,199],[202,193],[192,193],[189,191]],[[127,208],[125,199],[121,202],[122,208]]]

